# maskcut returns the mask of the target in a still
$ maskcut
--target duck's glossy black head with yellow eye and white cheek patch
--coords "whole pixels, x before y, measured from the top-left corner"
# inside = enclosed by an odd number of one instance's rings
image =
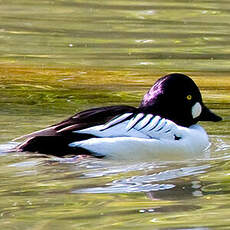
[[[145,94],[139,108],[143,112],[160,115],[186,127],[198,121],[222,120],[204,105],[195,82],[179,73],[157,80]]]

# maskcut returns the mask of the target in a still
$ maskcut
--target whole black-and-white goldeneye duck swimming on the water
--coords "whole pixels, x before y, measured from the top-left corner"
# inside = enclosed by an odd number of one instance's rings
[[[186,75],[166,75],[144,95],[138,108],[118,105],[89,109],[24,136],[17,151],[56,156],[89,154],[119,159],[197,155],[208,147],[198,121],[220,121],[202,102]]]

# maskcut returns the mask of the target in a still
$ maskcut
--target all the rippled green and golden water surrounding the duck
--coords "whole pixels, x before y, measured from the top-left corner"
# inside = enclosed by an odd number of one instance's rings
[[[226,0],[0,0],[1,228],[229,229],[229,12]],[[224,119],[202,123],[208,159],[5,153],[77,111],[137,106],[175,71]]]

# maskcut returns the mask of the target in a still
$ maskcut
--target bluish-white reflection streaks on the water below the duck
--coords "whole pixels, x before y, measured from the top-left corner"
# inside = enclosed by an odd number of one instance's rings
[[[97,174],[97,176],[105,176],[108,174],[118,174],[121,172],[132,171],[138,167],[127,167],[118,168]],[[143,165],[142,165],[143,167]],[[142,168],[140,167],[140,168]],[[119,180],[113,180],[104,186],[96,186],[92,188],[80,188],[73,190],[72,193],[132,193],[132,192],[153,192],[172,189],[175,187],[172,183],[153,183],[153,182],[166,182],[171,179],[181,178],[185,176],[197,175],[205,173],[209,165],[201,165],[196,167],[184,167],[173,170],[166,170],[159,173],[154,173],[150,175],[133,176],[129,178],[123,178]]]

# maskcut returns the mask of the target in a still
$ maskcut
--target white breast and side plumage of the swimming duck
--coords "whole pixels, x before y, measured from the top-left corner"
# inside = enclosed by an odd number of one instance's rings
[[[127,117],[127,114],[123,115],[123,118]],[[193,158],[199,157],[209,146],[208,135],[200,125],[186,128],[159,116],[142,113],[130,120],[122,121],[118,117],[111,122],[113,126],[108,123],[75,131],[98,138],[73,142],[70,146],[120,160],[165,159],[169,156],[171,159]]]

